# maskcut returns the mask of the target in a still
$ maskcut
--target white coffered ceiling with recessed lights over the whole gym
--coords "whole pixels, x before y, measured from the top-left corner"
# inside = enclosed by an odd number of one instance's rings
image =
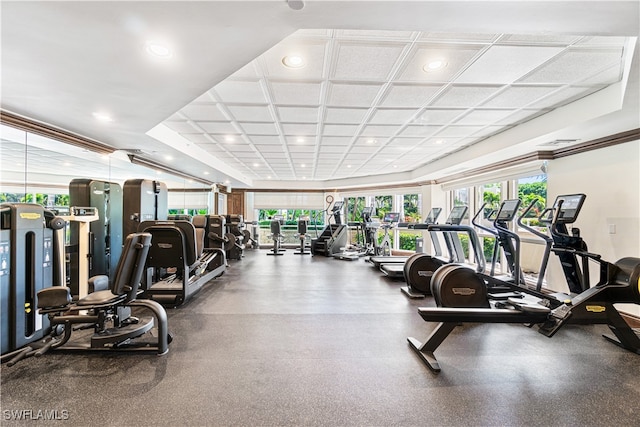
[[[441,179],[640,127],[638,2],[582,3],[3,1],[1,105],[115,150],[30,144],[42,182],[158,176],[132,153],[173,186]]]

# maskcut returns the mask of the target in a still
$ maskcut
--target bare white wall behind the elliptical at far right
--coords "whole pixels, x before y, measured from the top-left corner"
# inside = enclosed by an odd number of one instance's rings
[[[549,204],[560,194],[587,195],[574,226],[580,229],[590,252],[610,262],[640,258],[640,141],[550,161],[547,180]],[[547,283],[552,289],[567,291],[553,255]],[[623,310],[640,315],[637,305]]]

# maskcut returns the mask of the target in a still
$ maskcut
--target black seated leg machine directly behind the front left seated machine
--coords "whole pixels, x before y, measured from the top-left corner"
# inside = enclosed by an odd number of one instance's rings
[[[144,295],[163,305],[187,302],[226,269],[225,251],[206,247],[206,215],[189,221],[143,221],[139,231],[152,236],[146,259]]]

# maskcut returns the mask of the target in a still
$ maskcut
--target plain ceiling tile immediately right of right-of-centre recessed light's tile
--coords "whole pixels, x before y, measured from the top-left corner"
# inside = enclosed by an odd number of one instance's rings
[[[560,52],[555,46],[492,46],[456,78],[456,83],[512,83]]]

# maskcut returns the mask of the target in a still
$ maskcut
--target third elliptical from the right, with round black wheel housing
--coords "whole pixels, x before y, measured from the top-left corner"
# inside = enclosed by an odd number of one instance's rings
[[[449,212],[444,224],[433,223],[427,225],[427,231],[433,245],[433,254],[416,253],[407,258],[404,264],[385,265],[388,274],[398,275],[402,271],[407,286],[400,290],[409,298],[424,298],[431,295],[431,276],[439,267],[450,263],[464,263],[465,254],[462,249],[459,232],[470,233],[470,227],[461,225],[467,215],[468,208],[465,205],[455,206]],[[473,230],[473,229],[471,229]],[[475,233],[475,230],[473,230]],[[440,237],[444,239],[448,257],[445,257],[440,246]],[[478,256],[474,252],[475,256]],[[477,265],[484,265],[484,257]],[[382,266],[381,266],[382,270]]]

